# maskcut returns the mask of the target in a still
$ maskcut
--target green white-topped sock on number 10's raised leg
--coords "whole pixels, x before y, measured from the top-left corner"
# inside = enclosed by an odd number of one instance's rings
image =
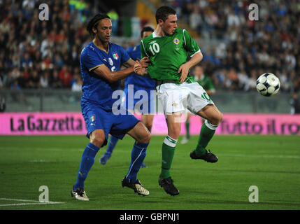
[[[197,146],[195,148],[196,155],[204,155],[206,153],[206,146],[208,145],[210,139],[213,138],[213,134],[215,134],[217,126],[218,125],[212,125],[208,123],[207,120],[205,121],[205,123],[203,123],[199,139],[197,141]]]

